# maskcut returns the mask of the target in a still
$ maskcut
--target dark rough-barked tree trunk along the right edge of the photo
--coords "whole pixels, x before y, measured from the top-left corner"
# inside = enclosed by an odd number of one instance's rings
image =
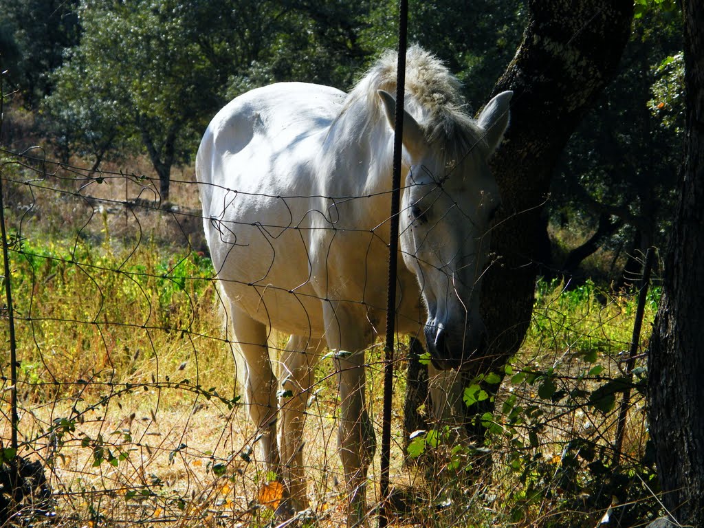
[[[662,502],[704,526],[704,4],[684,0],[686,139],[662,301],[650,339],[650,434]]]

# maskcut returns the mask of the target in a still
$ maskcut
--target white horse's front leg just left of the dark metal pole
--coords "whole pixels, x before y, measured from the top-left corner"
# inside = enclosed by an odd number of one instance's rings
[[[376,439],[365,403],[364,353],[338,353],[337,369],[341,417],[338,429],[340,457],[349,498],[348,525],[366,524],[367,470],[374,458]]]

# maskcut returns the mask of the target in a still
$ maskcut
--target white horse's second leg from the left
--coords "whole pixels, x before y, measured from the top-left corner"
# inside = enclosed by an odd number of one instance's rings
[[[308,508],[306,477],[303,472],[303,424],[313,367],[318,363],[320,341],[291,336],[281,357],[279,393],[281,423],[279,424],[279,451],[284,482],[294,510]]]

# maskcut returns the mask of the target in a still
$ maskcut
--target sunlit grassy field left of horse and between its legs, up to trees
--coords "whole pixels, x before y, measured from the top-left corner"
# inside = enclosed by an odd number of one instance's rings
[[[17,455],[41,463],[25,479],[42,468],[51,489],[50,500],[36,488],[16,497],[25,508],[8,522],[37,522],[37,514],[92,526],[270,522],[280,497],[267,491],[258,433],[243,409],[194,182],[172,182],[184,204],[176,206],[160,203],[141,175],[56,163],[41,149],[2,156],[4,278],[15,290],[18,344],[16,384],[11,362],[0,373],[2,441],[14,449],[16,432]],[[285,341],[270,335],[273,356]],[[371,369],[380,363],[371,351]],[[322,365],[311,391],[306,415],[317,433],[304,464],[316,518],[334,525],[344,474],[332,375]],[[376,413],[379,386],[368,390]]]

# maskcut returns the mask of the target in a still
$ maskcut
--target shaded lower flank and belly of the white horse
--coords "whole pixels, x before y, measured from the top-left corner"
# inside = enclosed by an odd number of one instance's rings
[[[308,229],[291,199],[231,191],[206,234],[227,297],[254,320],[290,334],[322,337],[322,308],[310,277]]]

